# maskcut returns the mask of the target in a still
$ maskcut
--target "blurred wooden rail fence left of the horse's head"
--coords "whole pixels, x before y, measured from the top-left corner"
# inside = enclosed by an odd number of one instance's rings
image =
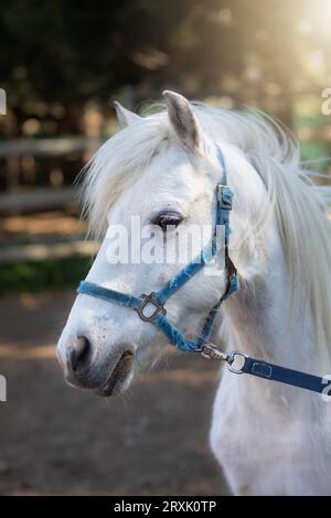
[[[0,142],[0,160],[6,162],[6,191],[0,193],[0,215],[13,216],[21,213],[64,208],[77,202],[74,185],[22,188],[20,185],[21,160],[35,158],[63,158],[82,155],[82,162],[100,145],[100,139],[70,137],[60,139],[24,139]],[[73,236],[71,242],[39,242],[25,246],[8,246],[0,250],[0,263],[11,261],[45,260],[72,255],[96,253],[98,244]]]

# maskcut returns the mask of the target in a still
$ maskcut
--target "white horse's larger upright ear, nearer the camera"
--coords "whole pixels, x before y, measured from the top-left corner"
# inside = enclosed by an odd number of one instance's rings
[[[163,91],[170,122],[180,142],[190,151],[200,151],[203,137],[197,119],[188,99],[174,91]]]

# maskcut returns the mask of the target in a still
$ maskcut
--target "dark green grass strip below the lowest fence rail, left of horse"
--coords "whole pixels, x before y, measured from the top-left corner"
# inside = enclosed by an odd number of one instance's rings
[[[0,295],[75,288],[90,266],[92,259],[82,256],[1,265]]]

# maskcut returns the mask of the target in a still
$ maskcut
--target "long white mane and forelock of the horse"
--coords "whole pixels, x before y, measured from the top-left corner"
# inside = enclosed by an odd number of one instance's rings
[[[300,164],[298,143],[267,116],[200,104],[194,111],[203,131],[215,142],[236,145],[264,181],[277,215],[292,306],[307,300],[317,344],[331,352],[331,228],[321,192]],[[108,208],[168,145],[170,132],[167,112],[161,111],[117,132],[98,150],[83,184],[84,212],[94,233],[104,233]]]

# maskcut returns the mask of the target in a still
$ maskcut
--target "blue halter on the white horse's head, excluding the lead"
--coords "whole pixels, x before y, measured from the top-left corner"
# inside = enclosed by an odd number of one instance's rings
[[[82,281],[77,289],[78,293],[84,295],[96,296],[104,299],[108,302],[115,302],[116,304],[124,305],[136,310],[139,317],[145,321],[154,324],[161,330],[169,342],[175,345],[179,350],[189,353],[195,353],[202,350],[203,347],[209,343],[217,310],[221,304],[228,299],[229,295],[238,291],[239,280],[235,266],[228,256],[228,240],[229,240],[229,211],[232,209],[233,193],[227,187],[226,177],[226,165],[222,151],[217,148],[217,157],[223,171],[223,184],[216,185],[216,214],[214,222],[214,229],[212,235],[212,244],[203,249],[197,258],[193,259],[186,265],[179,273],[172,277],[158,292],[151,292],[148,295],[142,293],[140,296],[134,296],[127,293],[120,293],[108,288],[103,288],[93,282]],[[217,255],[216,235],[217,228],[224,226],[224,257],[225,257],[225,272],[226,272],[226,288],[217,303],[209,312],[199,337],[194,341],[189,341],[185,336],[167,319],[167,310],[164,307],[168,299],[180,290],[195,273]],[[147,314],[147,306],[153,306],[152,314]]]

